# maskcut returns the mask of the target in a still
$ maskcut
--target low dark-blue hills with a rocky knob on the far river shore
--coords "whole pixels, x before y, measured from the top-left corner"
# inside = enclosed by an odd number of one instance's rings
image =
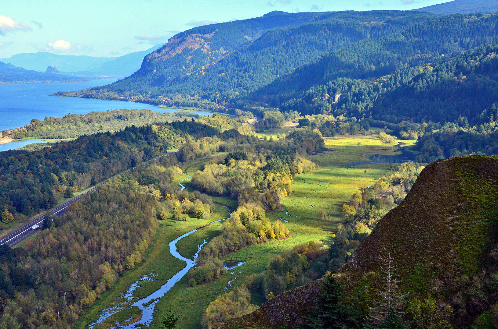
[[[89,81],[89,79],[61,75],[52,67],[48,67],[45,73],[41,73],[0,62],[0,84],[85,81]]]

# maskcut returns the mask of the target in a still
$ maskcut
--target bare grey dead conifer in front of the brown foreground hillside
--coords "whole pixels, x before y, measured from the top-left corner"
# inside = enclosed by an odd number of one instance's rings
[[[380,296],[380,298],[375,300],[374,305],[370,307],[370,316],[367,318],[373,324],[384,321],[390,307],[399,312],[404,304],[404,299],[408,296],[408,294],[401,294],[396,291],[398,284],[394,277],[396,266],[393,265],[394,257],[391,256],[391,246],[387,245],[385,250],[387,251],[387,257],[380,256],[383,262],[380,270],[385,274],[380,278],[380,281],[384,283],[384,287],[382,290],[376,291],[377,296]]]

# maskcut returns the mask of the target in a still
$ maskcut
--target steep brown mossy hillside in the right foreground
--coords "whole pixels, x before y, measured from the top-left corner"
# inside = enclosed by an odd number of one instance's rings
[[[498,157],[428,165],[401,204],[378,223],[337,276],[350,303],[368,314],[381,257],[390,246],[398,289],[449,305],[454,328],[494,328],[498,316]],[[320,280],[281,294],[222,328],[296,328]],[[282,316],[276,317],[275,314]]]

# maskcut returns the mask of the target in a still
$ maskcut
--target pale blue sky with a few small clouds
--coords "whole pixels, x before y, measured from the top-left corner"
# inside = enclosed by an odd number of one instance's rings
[[[447,0],[17,0],[0,7],[0,58],[48,51],[121,56],[179,31],[272,10],[406,10]]]

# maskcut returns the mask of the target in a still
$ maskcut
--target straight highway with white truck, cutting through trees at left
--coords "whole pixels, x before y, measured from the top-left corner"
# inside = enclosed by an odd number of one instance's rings
[[[146,161],[143,163],[143,165],[147,166],[149,162],[151,161],[155,161],[161,157],[169,157],[170,155],[172,154],[176,154],[178,151],[174,151],[174,152],[169,152],[165,155],[162,155],[162,156],[159,156],[159,157],[156,157],[154,159],[151,159],[149,161]],[[126,172],[130,169],[126,169],[118,174],[117,175],[120,175],[122,174],[123,172]],[[107,181],[107,179],[106,179]],[[95,185],[94,187],[92,187],[91,189],[89,189],[88,191],[86,191],[85,193],[83,194],[87,194],[87,193],[90,193],[90,192],[93,192],[95,191],[95,189],[97,188],[97,186],[99,185],[104,185],[106,183],[106,181],[102,182],[102,183],[99,183],[97,185]],[[81,199],[81,196],[83,194],[80,194],[66,202],[64,202],[63,204],[61,204],[60,206],[54,208],[54,209],[51,209],[51,211],[56,215],[56,216],[61,216],[63,215],[64,213],[66,213],[67,211],[67,207],[69,207],[69,205],[73,202],[73,201],[77,201],[79,199]],[[26,239],[27,237],[29,237],[30,235],[32,235],[33,233],[35,233],[36,231],[40,230],[41,228],[43,228],[43,220],[45,219],[45,215],[40,215],[38,217],[36,217],[36,219],[34,219],[33,221],[29,222],[28,224],[24,225],[22,228],[20,228],[19,230],[11,233],[10,235],[8,236],[4,236],[1,238],[0,240],[0,245],[3,245],[3,244],[7,244],[7,246],[9,247],[13,247],[15,246],[16,244],[18,244],[19,242],[23,241],[24,239]],[[33,226],[35,225],[38,225],[38,227],[36,229],[32,229]]]

